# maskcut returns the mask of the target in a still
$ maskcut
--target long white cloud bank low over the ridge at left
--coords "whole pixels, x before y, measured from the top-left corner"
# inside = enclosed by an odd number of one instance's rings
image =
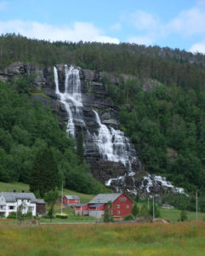
[[[119,44],[117,38],[105,36],[92,23],[75,22],[73,26],[52,26],[35,21],[10,20],[0,21],[0,34],[15,32],[28,38],[45,39],[50,41],[80,40]]]

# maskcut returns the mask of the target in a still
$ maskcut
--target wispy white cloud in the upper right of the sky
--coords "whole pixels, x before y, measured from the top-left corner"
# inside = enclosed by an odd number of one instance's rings
[[[158,39],[164,40],[174,34],[185,38],[193,36],[205,38],[205,0],[196,0],[193,8],[182,10],[168,22],[162,22],[156,15],[142,10],[124,16],[123,20],[136,28],[135,35],[128,38],[130,43],[156,44]],[[202,44],[196,45],[198,48],[200,45],[202,50]]]

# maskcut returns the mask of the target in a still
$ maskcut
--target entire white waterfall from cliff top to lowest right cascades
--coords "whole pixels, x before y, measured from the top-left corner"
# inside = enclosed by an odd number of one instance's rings
[[[72,137],[75,137],[75,127],[83,127],[84,146],[87,154],[94,150],[94,152],[100,154],[103,160],[120,162],[127,170],[123,175],[121,174],[122,176],[113,177],[107,180],[105,185],[114,185],[115,189],[118,192],[121,192],[122,186],[129,180],[131,183],[129,183],[127,191],[136,194],[137,189],[134,180],[135,172],[132,172],[132,165],[137,162],[139,165],[138,170],[144,169],[132,144],[129,143],[128,138],[125,137],[122,131],[115,130],[111,126],[102,124],[97,111],[94,109],[88,110],[87,108],[86,110],[86,108],[83,108],[79,69],[64,65],[64,67],[61,67],[60,72],[62,71],[65,72],[64,92],[60,91],[58,70],[54,67],[55,93],[59,97],[60,102],[65,105],[67,113],[67,133]],[[83,111],[85,110],[89,112],[87,117],[83,115]],[[86,122],[84,122],[84,120]],[[94,123],[93,125],[95,128],[92,128],[92,125],[89,126],[88,123]],[[87,148],[89,148],[88,151]],[[183,189],[174,188],[174,186],[171,183],[168,183],[163,177],[152,177],[150,175],[142,178],[142,183],[138,189],[149,194],[153,187],[159,187],[160,184],[162,187],[171,189],[173,192],[184,193]]]

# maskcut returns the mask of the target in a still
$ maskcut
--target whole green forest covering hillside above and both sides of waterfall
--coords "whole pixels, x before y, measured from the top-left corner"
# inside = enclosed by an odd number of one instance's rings
[[[0,69],[14,61],[43,67],[72,63],[117,75],[119,84],[107,79],[103,82],[119,110],[122,131],[134,143],[145,170],[162,174],[189,192],[198,189],[205,194],[204,55],[158,46],[50,43],[2,35]],[[125,82],[121,74],[135,79]],[[145,78],[159,84],[143,90]],[[75,142],[60,130],[58,119],[49,108],[30,101],[29,89],[22,91],[22,83],[0,86],[0,179],[28,182],[37,152],[47,147],[68,188],[89,193],[103,189],[97,182],[90,186],[93,177],[82,154],[74,149]],[[77,184],[72,182],[76,178]],[[86,188],[81,187],[84,179],[88,180]]]

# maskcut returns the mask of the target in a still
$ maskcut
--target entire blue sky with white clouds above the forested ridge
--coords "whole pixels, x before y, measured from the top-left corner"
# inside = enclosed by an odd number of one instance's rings
[[[0,0],[0,34],[205,54],[205,0]]]

